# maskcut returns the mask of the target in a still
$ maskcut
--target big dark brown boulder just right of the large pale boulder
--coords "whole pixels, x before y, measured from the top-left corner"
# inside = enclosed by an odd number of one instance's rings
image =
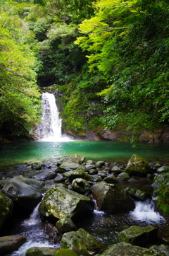
[[[134,209],[134,201],[122,188],[106,182],[92,186],[93,197],[100,211],[122,213]]]

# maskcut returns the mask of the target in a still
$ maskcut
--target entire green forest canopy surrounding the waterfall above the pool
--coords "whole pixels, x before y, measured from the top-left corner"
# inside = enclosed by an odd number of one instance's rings
[[[18,131],[29,129],[39,118],[37,86],[55,85],[65,131],[123,124],[137,136],[168,125],[167,0],[3,0],[0,8],[1,124],[13,116]]]

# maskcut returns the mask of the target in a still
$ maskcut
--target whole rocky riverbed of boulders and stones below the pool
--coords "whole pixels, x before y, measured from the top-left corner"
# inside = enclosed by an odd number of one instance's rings
[[[128,163],[94,162],[76,154],[8,166],[0,177],[1,255],[20,255],[19,248],[29,243],[31,235],[18,232],[23,225],[18,220],[27,219],[36,206],[36,221],[48,235],[44,247],[30,245],[22,255],[169,255],[167,163],[147,163],[137,155]],[[135,225],[134,211],[144,202],[155,205],[157,219]]]

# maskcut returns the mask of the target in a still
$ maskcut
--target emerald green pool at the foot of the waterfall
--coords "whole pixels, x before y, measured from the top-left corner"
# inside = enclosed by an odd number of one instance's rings
[[[110,141],[33,141],[7,144],[1,147],[0,164],[44,161],[80,153],[86,159],[126,162],[133,153],[147,161],[169,161],[169,144],[131,144]]]

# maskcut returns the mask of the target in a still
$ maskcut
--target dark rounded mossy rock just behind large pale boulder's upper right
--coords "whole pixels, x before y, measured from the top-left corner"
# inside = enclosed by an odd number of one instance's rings
[[[75,192],[80,194],[86,194],[91,192],[91,186],[89,185],[89,182],[87,180],[84,180],[82,178],[77,178],[73,180],[72,187]]]

